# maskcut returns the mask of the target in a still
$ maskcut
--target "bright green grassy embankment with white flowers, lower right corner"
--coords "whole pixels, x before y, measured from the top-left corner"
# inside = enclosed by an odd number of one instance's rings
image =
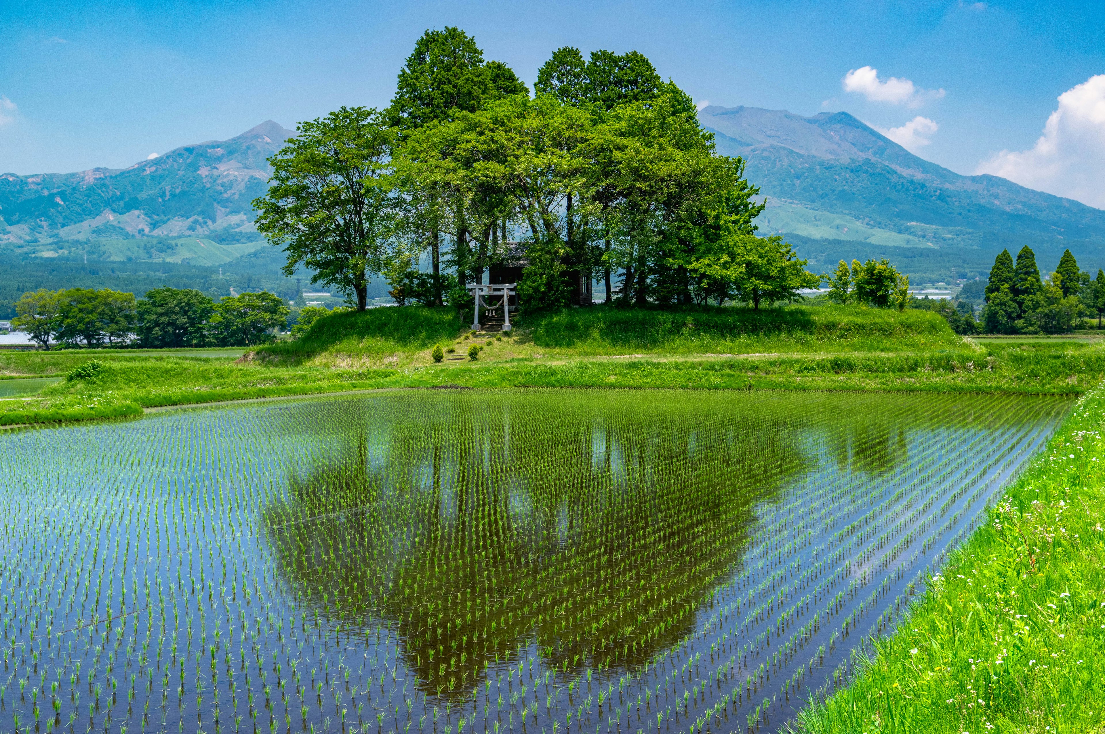
[[[1105,731],[1105,390],[1080,400],[848,688],[840,732]]]

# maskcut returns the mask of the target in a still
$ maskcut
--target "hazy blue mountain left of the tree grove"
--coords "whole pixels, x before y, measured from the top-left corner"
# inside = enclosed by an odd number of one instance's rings
[[[25,246],[55,240],[260,240],[250,202],[267,189],[265,159],[291,135],[269,120],[125,169],[0,174],[0,243],[33,252]]]

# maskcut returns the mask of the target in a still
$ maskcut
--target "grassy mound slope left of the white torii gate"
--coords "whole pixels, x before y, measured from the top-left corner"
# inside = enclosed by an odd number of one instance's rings
[[[455,309],[406,306],[330,313],[311,325],[295,341],[267,344],[259,353],[294,360],[323,352],[389,354],[429,349],[461,330]]]

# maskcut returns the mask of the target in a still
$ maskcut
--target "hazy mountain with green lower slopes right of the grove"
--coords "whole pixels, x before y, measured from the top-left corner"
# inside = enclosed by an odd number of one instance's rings
[[[1105,211],[993,175],[960,175],[848,113],[712,106],[699,120],[719,152],[748,161],[748,179],[768,196],[760,231],[797,235],[803,256],[885,253],[950,277],[988,269],[994,252],[1028,244],[1044,268],[1064,247],[1084,267],[1105,265]]]

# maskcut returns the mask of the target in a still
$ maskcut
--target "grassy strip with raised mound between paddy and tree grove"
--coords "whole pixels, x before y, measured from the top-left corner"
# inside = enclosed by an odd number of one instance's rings
[[[434,363],[435,344],[445,359]],[[467,353],[478,345],[476,360]],[[452,351],[450,351],[452,350]],[[210,359],[227,353],[228,359]],[[448,309],[336,313],[303,338],[241,351],[0,353],[0,376],[95,375],[0,398],[0,425],[143,408],[380,387],[464,385],[883,390],[1082,394],[1105,375],[1097,342],[966,341],[928,311],[790,307],[567,309],[475,334]]]

